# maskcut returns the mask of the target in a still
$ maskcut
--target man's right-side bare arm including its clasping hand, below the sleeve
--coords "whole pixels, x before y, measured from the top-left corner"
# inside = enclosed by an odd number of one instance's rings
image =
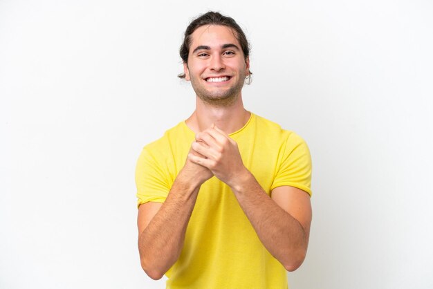
[[[304,261],[311,223],[311,203],[306,192],[277,187],[272,198],[243,166],[236,142],[216,127],[196,136],[194,151],[205,156],[188,158],[208,167],[229,185],[265,248],[289,271]],[[205,142],[206,145],[203,145]]]

